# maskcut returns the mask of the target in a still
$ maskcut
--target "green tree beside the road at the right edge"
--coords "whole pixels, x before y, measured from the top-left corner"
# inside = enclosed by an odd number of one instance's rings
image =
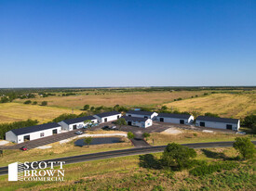
[[[255,146],[249,140],[249,137],[236,137],[233,147],[239,151],[243,159],[252,159],[256,152]]]

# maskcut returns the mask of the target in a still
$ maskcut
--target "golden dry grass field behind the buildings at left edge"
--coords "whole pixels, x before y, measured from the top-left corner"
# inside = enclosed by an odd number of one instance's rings
[[[71,109],[53,108],[34,105],[25,105],[20,103],[0,104],[0,122],[26,121],[28,119],[38,120],[40,122],[51,121],[62,113],[71,113]],[[75,114],[82,111],[74,110]]]

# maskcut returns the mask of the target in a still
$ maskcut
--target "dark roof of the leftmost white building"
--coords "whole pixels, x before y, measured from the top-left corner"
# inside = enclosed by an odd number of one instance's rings
[[[16,135],[30,134],[30,133],[34,133],[42,130],[52,129],[55,127],[61,127],[61,125],[58,124],[57,122],[50,122],[46,124],[39,124],[39,125],[30,126],[30,127],[24,127],[20,129],[13,129],[11,130],[11,132]]]

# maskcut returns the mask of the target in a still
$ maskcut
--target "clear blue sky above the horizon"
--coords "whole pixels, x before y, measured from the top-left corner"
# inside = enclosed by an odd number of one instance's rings
[[[0,0],[0,87],[256,85],[255,0]]]

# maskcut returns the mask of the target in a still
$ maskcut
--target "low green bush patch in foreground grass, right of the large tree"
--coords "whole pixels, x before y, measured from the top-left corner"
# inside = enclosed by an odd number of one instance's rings
[[[210,165],[204,164],[189,171],[189,173],[194,176],[203,176],[213,172],[222,172],[223,170],[232,170],[237,168],[238,166],[239,164],[236,162],[225,161],[225,162],[210,164]]]

